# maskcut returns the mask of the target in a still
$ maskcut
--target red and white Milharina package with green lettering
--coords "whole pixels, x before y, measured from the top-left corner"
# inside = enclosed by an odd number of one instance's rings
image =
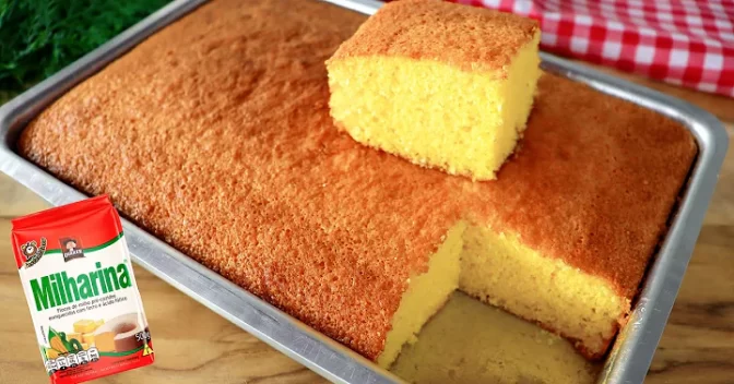
[[[51,383],[153,363],[122,224],[107,196],[17,218],[12,243]]]

